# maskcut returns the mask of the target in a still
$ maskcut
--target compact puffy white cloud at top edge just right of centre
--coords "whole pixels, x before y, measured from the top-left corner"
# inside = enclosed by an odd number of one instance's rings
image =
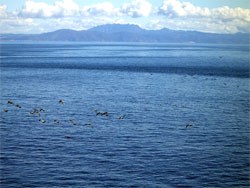
[[[131,17],[149,16],[152,5],[147,0],[133,0],[131,3],[124,3],[121,12]]]

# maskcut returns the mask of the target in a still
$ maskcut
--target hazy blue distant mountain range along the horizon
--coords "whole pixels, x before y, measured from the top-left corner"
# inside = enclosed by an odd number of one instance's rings
[[[106,24],[88,30],[61,29],[42,34],[1,34],[0,41],[76,41],[249,44],[249,33],[215,34],[181,30],[145,30],[131,24]]]

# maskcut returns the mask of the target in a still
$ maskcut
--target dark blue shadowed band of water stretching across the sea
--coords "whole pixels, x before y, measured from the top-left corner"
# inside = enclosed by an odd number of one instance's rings
[[[69,64],[69,63],[2,63],[3,68],[39,68],[39,69],[83,69],[100,71],[148,72],[181,75],[204,75],[219,77],[250,78],[249,69],[244,67],[214,66],[153,66],[153,65],[114,65],[114,64]]]

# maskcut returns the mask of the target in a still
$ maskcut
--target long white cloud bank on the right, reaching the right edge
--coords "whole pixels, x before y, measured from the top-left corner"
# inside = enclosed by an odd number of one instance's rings
[[[227,6],[209,9],[189,2],[164,0],[158,13],[180,29],[207,32],[235,33],[250,32],[250,10]],[[166,23],[166,22],[165,22]]]

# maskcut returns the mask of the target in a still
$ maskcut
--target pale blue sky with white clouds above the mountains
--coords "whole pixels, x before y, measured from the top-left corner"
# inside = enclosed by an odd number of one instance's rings
[[[0,0],[0,33],[136,24],[209,33],[250,32],[249,0]]]

